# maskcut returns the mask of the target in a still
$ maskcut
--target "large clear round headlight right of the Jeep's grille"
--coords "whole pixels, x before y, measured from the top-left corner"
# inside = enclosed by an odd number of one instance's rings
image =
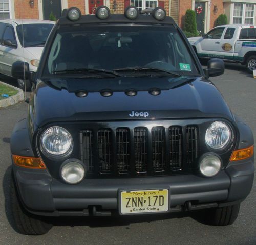
[[[222,121],[215,121],[206,130],[205,142],[212,149],[223,149],[231,140],[231,130]]]

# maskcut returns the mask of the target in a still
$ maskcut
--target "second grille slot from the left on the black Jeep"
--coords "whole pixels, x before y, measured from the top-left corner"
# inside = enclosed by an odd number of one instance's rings
[[[98,131],[99,169],[101,173],[110,173],[112,170],[113,155],[111,154],[111,131]]]

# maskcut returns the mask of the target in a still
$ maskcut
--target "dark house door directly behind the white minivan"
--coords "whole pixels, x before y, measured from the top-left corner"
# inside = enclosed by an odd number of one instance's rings
[[[44,19],[57,20],[61,16],[61,0],[42,0]]]

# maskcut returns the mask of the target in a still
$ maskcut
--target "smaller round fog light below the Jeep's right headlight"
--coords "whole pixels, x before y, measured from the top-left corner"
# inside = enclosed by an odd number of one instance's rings
[[[221,170],[221,159],[217,155],[207,155],[201,159],[199,168],[204,176],[215,176]]]

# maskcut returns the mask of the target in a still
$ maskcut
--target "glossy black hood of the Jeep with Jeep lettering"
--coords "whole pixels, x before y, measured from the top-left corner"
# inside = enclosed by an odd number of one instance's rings
[[[161,90],[157,96],[148,92],[155,87]],[[113,95],[103,97],[100,94],[102,88],[111,89]],[[136,89],[137,95],[127,96],[124,91],[129,88]],[[87,90],[88,95],[77,97],[75,91],[82,89]],[[200,77],[39,81],[31,103],[30,111],[39,127],[49,122],[79,120],[197,117],[232,120],[232,113],[218,89]]]

